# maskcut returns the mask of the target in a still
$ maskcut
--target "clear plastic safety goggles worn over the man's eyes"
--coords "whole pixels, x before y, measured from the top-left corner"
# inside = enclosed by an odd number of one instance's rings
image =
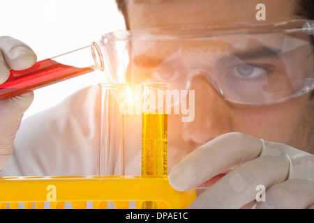
[[[225,100],[267,105],[313,91],[313,35],[308,20],[197,24],[107,33],[100,48],[107,82],[197,91],[202,77]]]

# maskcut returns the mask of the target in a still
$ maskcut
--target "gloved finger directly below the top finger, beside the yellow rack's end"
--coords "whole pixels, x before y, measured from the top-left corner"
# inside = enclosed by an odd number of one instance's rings
[[[287,179],[286,157],[261,156],[239,164],[214,185],[202,192],[189,208],[241,208],[265,189]]]

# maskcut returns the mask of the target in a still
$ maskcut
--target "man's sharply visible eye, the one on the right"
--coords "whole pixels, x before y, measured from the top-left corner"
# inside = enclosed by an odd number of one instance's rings
[[[232,69],[232,73],[236,77],[253,79],[267,75],[267,69],[263,68],[262,66],[241,63]]]

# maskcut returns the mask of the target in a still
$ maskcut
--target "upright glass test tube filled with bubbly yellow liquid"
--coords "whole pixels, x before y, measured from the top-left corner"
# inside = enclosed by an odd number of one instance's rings
[[[167,177],[167,93],[170,84],[142,83],[142,176]],[[144,209],[157,208],[144,201]]]

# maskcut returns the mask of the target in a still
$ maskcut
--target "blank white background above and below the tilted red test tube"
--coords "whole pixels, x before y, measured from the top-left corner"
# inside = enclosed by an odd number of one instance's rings
[[[38,61],[98,43],[103,34],[119,29],[125,29],[124,18],[114,0],[0,0],[0,36],[22,40]],[[98,84],[102,75],[93,72],[34,91],[24,118]]]

